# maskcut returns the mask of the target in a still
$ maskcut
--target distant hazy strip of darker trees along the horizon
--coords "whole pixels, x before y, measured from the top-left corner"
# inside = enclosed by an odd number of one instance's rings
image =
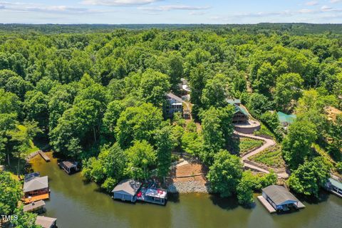
[[[342,24],[259,23],[259,24],[0,24],[0,33],[105,33],[113,29],[149,28],[192,30],[202,28],[217,33],[289,33],[293,35],[342,33]]]

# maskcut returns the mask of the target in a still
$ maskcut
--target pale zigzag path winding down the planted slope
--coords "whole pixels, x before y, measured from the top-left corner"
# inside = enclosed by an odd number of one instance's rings
[[[261,137],[261,136],[239,133],[236,130],[234,130],[234,134],[242,136],[242,137],[246,137],[246,138],[252,138],[254,140],[263,140],[265,142],[264,145],[262,145],[261,147],[253,150],[252,152],[249,152],[247,155],[244,155],[242,157],[242,161],[244,162],[244,167],[248,167],[251,170],[257,170],[259,172],[269,173],[269,170],[265,170],[265,169],[263,169],[261,167],[249,164],[249,163],[247,163],[245,161],[248,160],[249,157],[252,157],[253,155],[257,155],[257,153],[259,153],[259,152],[261,152],[263,150],[266,150],[266,148],[272,147],[272,146],[276,145],[276,142],[274,140],[271,140],[269,138],[264,138],[264,137]],[[276,175],[279,178],[288,178],[289,177],[289,175],[286,172],[280,172],[280,173],[277,173]]]

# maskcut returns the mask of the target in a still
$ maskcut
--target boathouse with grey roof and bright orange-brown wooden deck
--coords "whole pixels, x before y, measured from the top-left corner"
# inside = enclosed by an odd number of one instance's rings
[[[24,202],[30,203],[49,198],[48,176],[39,177],[38,172],[26,175],[24,179]]]

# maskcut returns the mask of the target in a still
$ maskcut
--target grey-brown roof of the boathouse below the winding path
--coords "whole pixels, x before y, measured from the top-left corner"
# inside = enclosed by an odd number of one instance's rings
[[[294,197],[285,187],[280,185],[270,185],[269,187],[265,187],[262,189],[262,192],[265,192],[266,195],[276,204],[280,205],[286,201],[294,201],[299,202],[299,200]]]

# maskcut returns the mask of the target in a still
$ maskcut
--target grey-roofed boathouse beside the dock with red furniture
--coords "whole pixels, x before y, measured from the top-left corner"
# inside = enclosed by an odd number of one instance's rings
[[[141,183],[132,179],[123,180],[113,189],[113,198],[123,201],[135,202],[137,200],[137,192]]]

